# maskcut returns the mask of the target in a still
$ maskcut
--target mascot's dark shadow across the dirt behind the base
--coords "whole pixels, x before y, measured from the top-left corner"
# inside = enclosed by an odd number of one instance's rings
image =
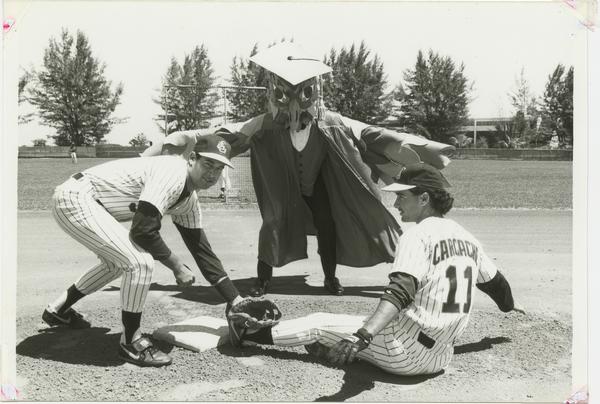
[[[278,295],[304,295],[304,296],[327,296],[329,293],[322,286],[311,286],[306,283],[308,275],[279,276],[273,278],[268,293]],[[234,279],[233,284],[240,291],[242,296],[248,296],[248,292],[254,286],[254,278]],[[118,286],[109,286],[103,289],[106,292],[116,292]],[[163,285],[152,283],[150,290],[179,292],[172,297],[200,302],[204,304],[217,305],[223,303],[223,298],[212,286],[191,286],[182,288],[177,285]],[[344,287],[344,295],[362,296],[362,297],[381,297],[382,286],[348,286]]]

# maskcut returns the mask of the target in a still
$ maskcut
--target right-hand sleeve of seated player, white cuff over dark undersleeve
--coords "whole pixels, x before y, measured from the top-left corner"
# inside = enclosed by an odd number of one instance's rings
[[[515,302],[510,284],[489,256],[483,251],[480,254],[481,264],[477,275],[477,288],[488,295],[501,311],[511,311]]]

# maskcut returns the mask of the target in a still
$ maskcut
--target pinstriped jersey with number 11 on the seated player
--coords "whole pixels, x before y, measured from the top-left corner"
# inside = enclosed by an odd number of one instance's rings
[[[451,345],[467,325],[474,283],[497,272],[480,243],[458,223],[429,217],[400,238],[392,272],[414,276],[414,301],[400,314],[404,335],[424,332],[437,344]]]

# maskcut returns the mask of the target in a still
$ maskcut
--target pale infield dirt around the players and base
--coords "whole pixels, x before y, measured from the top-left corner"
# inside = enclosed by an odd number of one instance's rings
[[[45,327],[45,305],[96,257],[64,234],[47,211],[18,215],[17,374],[20,399],[33,401],[564,401],[571,394],[572,213],[453,211],[501,265],[528,314],[501,313],[478,290],[450,367],[434,377],[398,377],[357,363],[334,369],[303,348],[229,345],[204,353],[163,347],[173,365],[142,369],[117,359],[119,282],[77,307],[88,330]],[[205,211],[208,238],[240,291],[255,274],[260,215],[256,210]],[[173,225],[167,244],[193,263]],[[387,283],[388,265],[341,267],[343,297],[322,288],[316,243],[309,259],[276,269],[269,297],[285,318],[312,312],[368,314]],[[142,319],[145,332],[199,315],[222,317],[224,304],[197,273],[190,289],[174,286],[158,265]]]

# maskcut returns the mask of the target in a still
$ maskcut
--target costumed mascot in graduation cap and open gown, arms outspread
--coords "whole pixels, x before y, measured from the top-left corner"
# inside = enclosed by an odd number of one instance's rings
[[[175,132],[143,155],[189,153],[208,133],[230,141],[232,155],[250,148],[263,220],[250,294],[267,292],[273,267],[306,258],[306,236],[316,234],[324,287],[342,295],[337,264],[371,267],[394,260],[402,231],[381,202],[379,179],[389,184],[419,161],[442,169],[454,148],[326,110],[320,76],[332,69],[294,43],[279,43],[250,60],[267,71],[270,112],[216,132]]]

